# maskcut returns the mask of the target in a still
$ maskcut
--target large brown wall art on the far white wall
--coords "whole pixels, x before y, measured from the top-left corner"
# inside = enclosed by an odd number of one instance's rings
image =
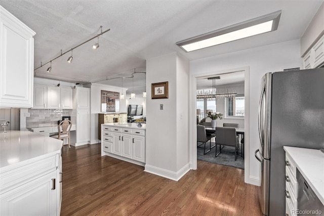
[[[115,113],[119,92],[101,90],[101,112]]]

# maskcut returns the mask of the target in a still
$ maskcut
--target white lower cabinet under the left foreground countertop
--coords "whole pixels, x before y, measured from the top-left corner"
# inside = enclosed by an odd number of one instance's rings
[[[61,160],[57,155],[3,172],[0,215],[60,215]],[[17,184],[6,184],[9,179]]]

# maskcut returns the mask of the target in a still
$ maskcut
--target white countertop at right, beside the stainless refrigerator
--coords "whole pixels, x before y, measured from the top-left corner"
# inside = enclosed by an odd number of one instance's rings
[[[318,199],[324,205],[324,154],[316,149],[284,146]]]

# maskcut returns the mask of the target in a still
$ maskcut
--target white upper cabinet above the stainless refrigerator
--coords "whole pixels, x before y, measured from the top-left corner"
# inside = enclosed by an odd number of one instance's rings
[[[322,65],[324,65],[324,35],[303,58],[304,69],[316,68]]]

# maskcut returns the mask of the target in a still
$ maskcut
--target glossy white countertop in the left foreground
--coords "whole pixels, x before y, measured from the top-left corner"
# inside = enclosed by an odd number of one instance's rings
[[[47,154],[60,153],[63,141],[31,131],[0,133],[0,169]]]

